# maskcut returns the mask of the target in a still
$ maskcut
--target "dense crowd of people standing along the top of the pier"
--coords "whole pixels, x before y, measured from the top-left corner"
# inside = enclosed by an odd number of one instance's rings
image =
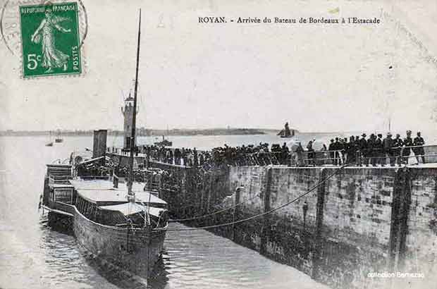
[[[318,148],[314,148],[317,144]],[[426,163],[424,156],[424,138],[417,132],[412,137],[412,131],[407,130],[402,138],[399,134],[387,133],[385,137],[381,133],[371,133],[369,137],[365,133],[351,135],[350,137],[335,137],[331,142],[321,144],[316,140],[310,140],[306,148],[300,141],[295,140],[288,147],[284,142],[280,144],[259,143],[238,147],[230,147],[224,144],[222,147],[214,147],[211,151],[198,151],[196,148],[168,148],[157,145],[138,147],[137,152],[149,156],[149,161],[160,161],[166,164],[178,166],[194,166],[210,168],[214,166],[266,166],[266,165],[290,165],[290,166],[314,166],[333,164],[358,164],[361,166],[385,166],[390,164],[408,164],[414,154],[417,163]]]

